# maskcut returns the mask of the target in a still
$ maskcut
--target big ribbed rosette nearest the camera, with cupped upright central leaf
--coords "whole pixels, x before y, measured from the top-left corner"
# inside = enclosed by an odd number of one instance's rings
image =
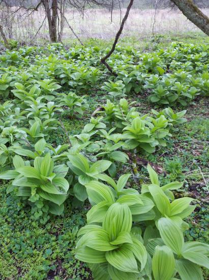
[[[78,232],[82,237],[76,246],[76,258],[97,264],[91,268],[100,279],[137,279],[145,267],[147,253],[144,245],[131,233],[131,227],[129,207],[113,204],[102,226],[86,226]]]

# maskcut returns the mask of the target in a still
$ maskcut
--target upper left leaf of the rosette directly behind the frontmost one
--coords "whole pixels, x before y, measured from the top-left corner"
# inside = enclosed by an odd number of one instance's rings
[[[91,181],[85,187],[88,197],[96,204],[102,201],[114,203],[114,195],[107,185],[98,181]]]

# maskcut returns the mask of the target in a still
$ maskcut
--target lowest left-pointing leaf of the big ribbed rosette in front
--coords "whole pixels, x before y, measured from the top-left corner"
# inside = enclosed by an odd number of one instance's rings
[[[79,246],[76,248],[75,257],[85,263],[105,263],[105,251],[97,251],[87,246]]]

